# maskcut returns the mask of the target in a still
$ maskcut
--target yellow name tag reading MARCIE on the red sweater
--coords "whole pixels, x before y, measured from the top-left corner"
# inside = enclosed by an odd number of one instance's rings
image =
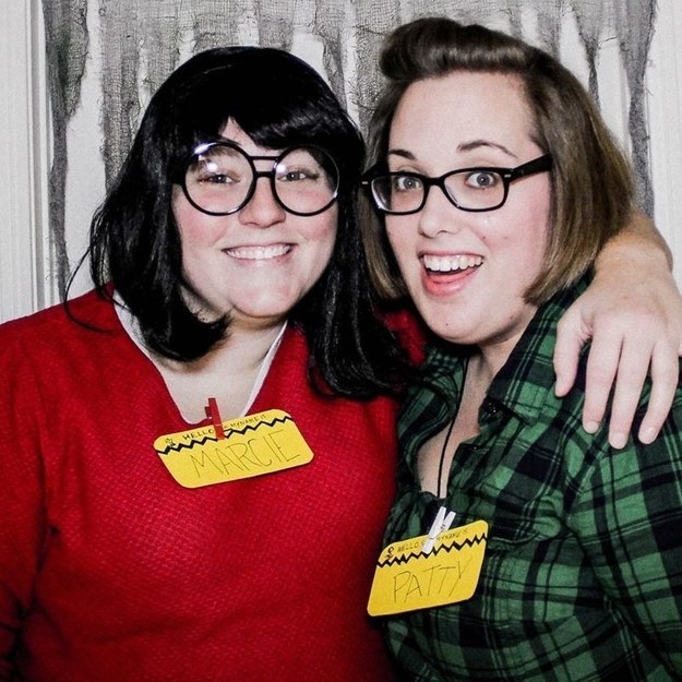
[[[161,435],[154,450],[178,483],[201,488],[308,464],[312,451],[287,412],[264,412]]]

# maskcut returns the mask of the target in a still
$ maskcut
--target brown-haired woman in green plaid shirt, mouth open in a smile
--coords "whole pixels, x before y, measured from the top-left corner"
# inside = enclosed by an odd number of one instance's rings
[[[553,390],[558,322],[633,212],[629,165],[522,40],[423,19],[381,63],[370,262],[434,340],[370,610],[409,680],[682,679],[682,391],[654,444],[614,452],[581,428],[585,361]]]

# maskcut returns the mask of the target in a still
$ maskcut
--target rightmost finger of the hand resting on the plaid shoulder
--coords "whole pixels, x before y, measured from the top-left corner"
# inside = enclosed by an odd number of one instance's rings
[[[639,440],[651,443],[666,421],[680,381],[680,360],[674,348],[657,344],[651,356],[651,394],[638,431]]]

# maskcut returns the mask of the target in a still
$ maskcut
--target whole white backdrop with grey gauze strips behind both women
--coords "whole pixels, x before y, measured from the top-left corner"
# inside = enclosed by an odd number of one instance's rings
[[[670,79],[655,73],[651,80],[650,52],[657,32],[675,37],[674,26],[682,23],[673,21],[680,17],[677,0],[663,3],[672,19],[660,17],[655,0],[41,0],[41,14],[37,2],[19,0],[32,41],[26,96],[40,109],[32,113],[39,124],[28,135],[37,149],[29,211],[39,290],[34,308],[63,294],[92,212],[120,167],[151,94],[181,61],[216,45],[268,45],[298,53],[322,72],[363,129],[380,87],[375,61],[385,33],[423,14],[483,23],[555,53],[588,85],[633,159],[638,200],[649,215],[656,215],[659,201],[654,187],[657,193],[669,191],[651,169],[657,132],[651,115],[665,113],[661,96],[653,99],[651,83],[669,99]],[[19,16],[16,0],[10,4]],[[2,33],[14,29],[0,27],[0,45]],[[672,53],[674,45],[669,49]],[[672,61],[667,50],[660,53]],[[40,80],[47,91],[43,107]],[[669,146],[660,139],[655,144]],[[678,228],[656,222],[670,241],[670,230]],[[23,252],[16,236],[15,242]],[[8,275],[17,276],[10,265],[0,254],[0,287]],[[74,292],[87,286],[86,279],[76,280]],[[2,303],[0,290],[0,320],[9,316]]]

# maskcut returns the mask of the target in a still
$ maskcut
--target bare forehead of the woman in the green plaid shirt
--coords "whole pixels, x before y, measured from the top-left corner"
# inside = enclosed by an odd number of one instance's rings
[[[513,149],[533,141],[535,129],[519,77],[456,71],[407,88],[393,118],[390,146],[452,149],[490,141]]]

